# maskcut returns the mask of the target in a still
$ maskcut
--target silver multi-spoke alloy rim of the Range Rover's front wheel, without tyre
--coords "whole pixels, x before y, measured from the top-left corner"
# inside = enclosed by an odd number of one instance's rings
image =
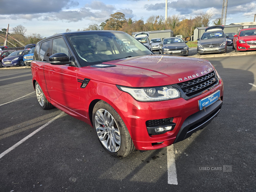
[[[121,135],[111,113],[105,109],[99,109],[95,113],[95,128],[102,145],[113,153],[117,152],[121,145]]]

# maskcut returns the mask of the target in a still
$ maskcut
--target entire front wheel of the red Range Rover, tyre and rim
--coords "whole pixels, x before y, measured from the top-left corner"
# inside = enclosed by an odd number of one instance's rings
[[[112,156],[123,158],[136,150],[122,118],[104,101],[93,108],[93,128],[100,144]]]

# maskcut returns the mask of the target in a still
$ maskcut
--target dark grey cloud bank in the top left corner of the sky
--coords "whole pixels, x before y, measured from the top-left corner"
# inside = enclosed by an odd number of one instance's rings
[[[1,3],[0,14],[1,15],[19,15],[19,14],[36,14],[36,13],[48,13],[59,12],[64,8],[70,8],[77,6],[77,1],[71,0],[7,0]]]

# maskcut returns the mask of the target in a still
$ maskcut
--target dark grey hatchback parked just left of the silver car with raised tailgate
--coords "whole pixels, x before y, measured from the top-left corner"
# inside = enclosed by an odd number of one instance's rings
[[[159,53],[164,55],[189,55],[189,47],[187,41],[183,41],[180,37],[172,37],[163,39],[160,44]]]

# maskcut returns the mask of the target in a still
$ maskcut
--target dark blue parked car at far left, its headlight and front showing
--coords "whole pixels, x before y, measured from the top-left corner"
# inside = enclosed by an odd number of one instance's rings
[[[3,67],[24,66],[23,56],[28,54],[29,50],[19,50],[12,52],[8,57],[2,60]]]

